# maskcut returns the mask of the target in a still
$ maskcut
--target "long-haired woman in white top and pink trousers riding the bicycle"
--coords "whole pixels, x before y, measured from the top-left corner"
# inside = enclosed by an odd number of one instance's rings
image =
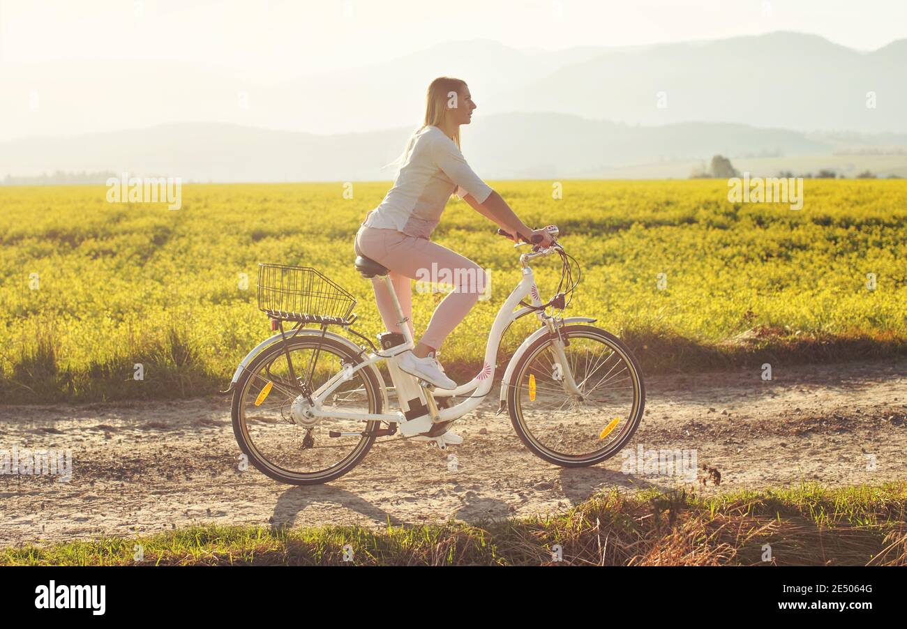
[[[401,356],[400,369],[442,389],[456,388],[435,355],[479,299],[487,282],[481,266],[429,237],[438,224],[447,199],[455,191],[485,218],[510,234],[541,235],[541,246],[551,244],[548,232],[533,230],[517,218],[501,195],[479,179],[460,152],[460,125],[469,124],[476,108],[469,87],[460,79],[440,77],[428,86],[425,123],[407,143],[400,157],[394,187],[371,210],[356,233],[356,255],[370,257],[387,267],[397,300],[413,331],[410,280],[427,275],[454,278],[453,291],[434,309],[422,339]],[[437,269],[434,272],[434,269]],[[391,296],[385,285],[372,280],[378,311],[387,330],[401,333]]]

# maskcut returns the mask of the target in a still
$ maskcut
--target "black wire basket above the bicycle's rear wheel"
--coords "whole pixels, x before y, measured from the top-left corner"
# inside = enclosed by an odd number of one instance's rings
[[[258,308],[272,319],[349,324],[356,298],[309,266],[258,265]]]

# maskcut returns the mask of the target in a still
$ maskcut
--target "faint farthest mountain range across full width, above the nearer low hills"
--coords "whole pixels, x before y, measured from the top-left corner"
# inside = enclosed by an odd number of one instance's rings
[[[180,121],[380,131],[419,121],[425,88],[442,74],[469,82],[478,117],[553,111],[629,125],[907,133],[907,40],[872,53],[797,33],[562,51],[477,40],[278,84],[222,72],[152,61],[0,64],[0,140]]]

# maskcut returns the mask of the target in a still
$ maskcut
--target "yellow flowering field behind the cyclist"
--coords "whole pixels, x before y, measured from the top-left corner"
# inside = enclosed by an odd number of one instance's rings
[[[561,227],[583,268],[567,314],[598,317],[645,373],[904,352],[907,181],[806,180],[800,211],[731,203],[719,180],[562,183],[562,199],[551,198],[551,181],[495,188],[527,223]],[[269,334],[256,308],[258,262],[323,271],[356,295],[356,328],[374,337],[383,326],[352,266],[352,239],[386,189],[356,183],[345,199],[340,183],[187,185],[182,209],[170,211],[108,204],[102,186],[0,188],[0,399],[223,388]],[[442,348],[447,372],[465,379],[519,281],[516,254],[455,200],[434,239],[492,270],[492,299]],[[554,260],[536,267],[543,296],[558,273]],[[442,296],[414,295],[417,331]],[[503,351],[525,332],[514,326]]]

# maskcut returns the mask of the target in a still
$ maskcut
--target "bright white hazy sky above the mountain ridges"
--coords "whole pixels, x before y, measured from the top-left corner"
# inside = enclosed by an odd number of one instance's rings
[[[0,64],[160,60],[270,81],[473,38],[622,46],[792,30],[874,50],[905,0],[0,0]]]

